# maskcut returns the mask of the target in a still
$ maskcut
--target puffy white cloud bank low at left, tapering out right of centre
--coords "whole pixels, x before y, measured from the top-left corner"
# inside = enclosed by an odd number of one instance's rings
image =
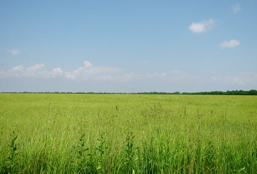
[[[126,73],[120,68],[93,66],[90,62],[84,61],[82,67],[73,71],[63,72],[61,68],[54,68],[52,71],[43,70],[45,64],[35,64],[24,68],[22,65],[13,67],[7,71],[0,72],[0,78],[57,78],[63,77],[75,81],[111,81],[131,82],[144,79],[163,79],[167,73]]]

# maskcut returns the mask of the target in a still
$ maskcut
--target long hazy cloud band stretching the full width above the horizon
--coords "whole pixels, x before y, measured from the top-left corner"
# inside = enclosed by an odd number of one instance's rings
[[[0,78],[44,78],[54,79],[63,78],[70,81],[100,83],[108,82],[115,84],[166,84],[173,86],[186,86],[192,84],[192,87],[208,86],[209,84],[231,84],[237,86],[253,85],[257,83],[256,72],[238,73],[236,75],[218,76],[214,72],[203,76],[192,72],[182,70],[170,70],[167,72],[125,72],[119,68],[93,66],[90,62],[85,61],[82,67],[73,71],[64,72],[61,68],[53,68],[52,70],[44,70],[45,64],[35,64],[29,67],[22,65],[15,66],[6,71],[0,71]]]

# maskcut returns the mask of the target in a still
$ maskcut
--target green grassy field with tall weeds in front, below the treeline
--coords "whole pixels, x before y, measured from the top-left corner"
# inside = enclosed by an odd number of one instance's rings
[[[254,174],[257,96],[0,94],[0,174]]]

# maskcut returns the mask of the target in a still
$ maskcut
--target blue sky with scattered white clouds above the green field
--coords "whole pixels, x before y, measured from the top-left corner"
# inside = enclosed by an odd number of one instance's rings
[[[0,0],[0,92],[257,89],[257,0]]]

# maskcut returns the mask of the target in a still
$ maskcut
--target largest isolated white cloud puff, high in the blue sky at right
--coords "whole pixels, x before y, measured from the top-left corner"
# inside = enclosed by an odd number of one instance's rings
[[[193,33],[202,33],[212,28],[214,23],[213,19],[203,20],[201,22],[192,22],[188,27]]]

